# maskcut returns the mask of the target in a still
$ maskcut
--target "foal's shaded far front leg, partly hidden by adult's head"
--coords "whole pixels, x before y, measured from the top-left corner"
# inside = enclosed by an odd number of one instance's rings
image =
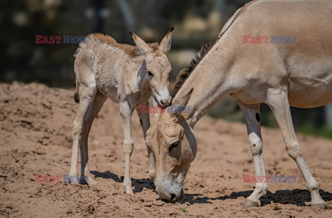
[[[149,101],[145,104],[146,107],[149,106]],[[150,117],[149,110],[140,111],[140,108],[136,109],[138,117],[140,118],[140,125],[142,126],[144,139],[147,137],[147,130],[150,128]],[[147,147],[147,157],[149,159],[149,176],[150,179],[154,182],[156,187],[156,192],[158,192],[158,184],[156,179],[156,159],[154,158],[154,153]]]

